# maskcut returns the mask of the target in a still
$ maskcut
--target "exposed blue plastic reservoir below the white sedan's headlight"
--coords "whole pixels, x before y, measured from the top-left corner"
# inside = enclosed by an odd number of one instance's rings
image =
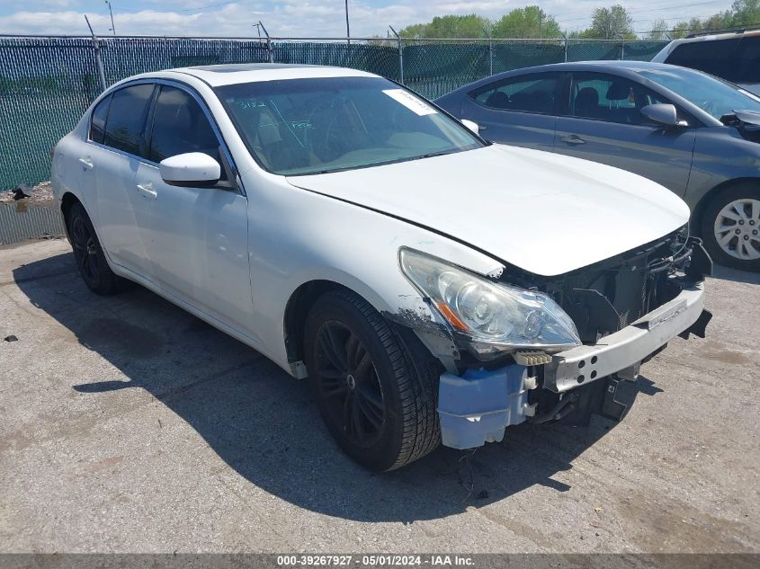
[[[463,376],[444,373],[438,390],[443,445],[472,449],[504,439],[504,430],[525,420],[527,369],[514,364]]]

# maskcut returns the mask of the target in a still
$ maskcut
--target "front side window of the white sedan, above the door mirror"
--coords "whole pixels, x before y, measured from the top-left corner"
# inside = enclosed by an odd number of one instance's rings
[[[190,93],[164,85],[153,113],[148,159],[161,162],[186,152],[202,152],[221,164],[219,139],[201,105]]]

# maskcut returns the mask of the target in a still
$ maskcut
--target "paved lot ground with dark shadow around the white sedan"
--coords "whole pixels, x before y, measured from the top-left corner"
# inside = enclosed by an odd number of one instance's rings
[[[623,422],[372,475],[255,351],[95,297],[64,241],[0,247],[0,552],[756,553],[760,277],[719,268],[708,307]]]

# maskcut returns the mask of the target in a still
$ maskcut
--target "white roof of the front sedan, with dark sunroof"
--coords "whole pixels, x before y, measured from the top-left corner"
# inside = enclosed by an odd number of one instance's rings
[[[255,83],[279,79],[308,79],[315,77],[376,77],[371,73],[345,67],[288,65],[280,63],[239,63],[216,66],[177,67],[139,77],[194,76],[212,87],[238,83]],[[136,77],[131,77],[132,79]]]

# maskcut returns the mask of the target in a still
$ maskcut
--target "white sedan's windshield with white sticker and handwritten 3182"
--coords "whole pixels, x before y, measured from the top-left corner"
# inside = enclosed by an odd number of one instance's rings
[[[484,146],[414,93],[380,77],[319,77],[216,89],[259,164],[335,172]]]

